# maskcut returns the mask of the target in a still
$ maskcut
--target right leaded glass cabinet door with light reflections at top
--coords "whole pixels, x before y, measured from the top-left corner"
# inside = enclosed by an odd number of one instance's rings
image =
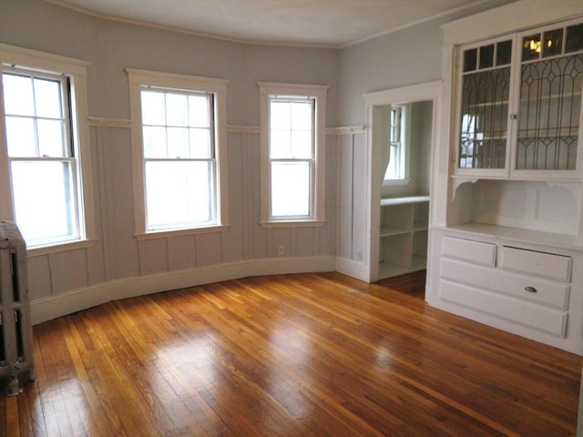
[[[513,174],[580,176],[583,24],[520,34]],[[515,52],[515,53],[517,53]]]

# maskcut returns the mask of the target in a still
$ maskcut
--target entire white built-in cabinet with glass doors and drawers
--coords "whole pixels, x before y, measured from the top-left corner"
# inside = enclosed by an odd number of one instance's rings
[[[425,299],[583,355],[583,5],[522,0],[444,30]]]

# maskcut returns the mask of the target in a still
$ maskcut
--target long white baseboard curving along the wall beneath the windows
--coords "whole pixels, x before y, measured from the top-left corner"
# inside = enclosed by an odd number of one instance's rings
[[[252,259],[170,271],[163,274],[117,279],[33,300],[31,302],[31,319],[32,323],[36,325],[46,320],[53,320],[66,314],[95,307],[110,300],[178,290],[222,280],[287,273],[334,271],[336,261],[335,257]]]

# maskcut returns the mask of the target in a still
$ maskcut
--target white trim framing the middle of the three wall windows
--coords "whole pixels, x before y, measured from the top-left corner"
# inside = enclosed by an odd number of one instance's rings
[[[169,235],[189,235],[225,230],[229,226],[229,202],[227,198],[227,84],[225,79],[188,76],[156,71],[126,68],[129,81],[131,115],[132,177],[134,182],[134,221],[137,239],[152,239]],[[142,138],[142,86],[197,90],[214,94],[215,97],[215,158],[217,160],[216,196],[217,224],[188,229],[146,229],[146,187],[144,183],[144,147]]]

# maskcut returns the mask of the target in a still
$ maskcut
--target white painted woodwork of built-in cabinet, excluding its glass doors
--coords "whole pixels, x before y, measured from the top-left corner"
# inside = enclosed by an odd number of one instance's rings
[[[459,46],[583,17],[580,2],[559,3],[521,0],[444,25],[446,123],[433,158],[432,210],[439,212],[430,226],[425,299],[583,355],[582,137],[576,171],[454,169]]]

